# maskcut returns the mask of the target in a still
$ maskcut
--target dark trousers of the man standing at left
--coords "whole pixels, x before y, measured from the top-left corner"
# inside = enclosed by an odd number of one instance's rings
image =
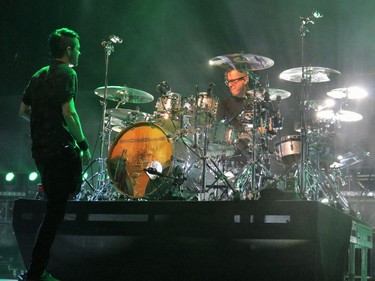
[[[50,248],[64,219],[69,196],[79,191],[82,182],[82,163],[76,148],[69,146],[47,156],[36,152],[34,159],[47,197],[47,206],[35,240],[28,279],[38,279],[46,269]]]

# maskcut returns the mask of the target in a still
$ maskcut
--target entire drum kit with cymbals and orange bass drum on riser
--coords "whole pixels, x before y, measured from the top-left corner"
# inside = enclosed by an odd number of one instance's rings
[[[302,38],[309,22],[302,20]],[[206,92],[197,89],[186,97],[161,81],[152,114],[120,106],[149,103],[153,95],[126,86],[99,87],[95,94],[103,105],[102,149],[94,162],[100,168],[85,180],[78,200],[252,200],[269,187],[290,190],[292,178],[298,180],[292,191],[302,198],[325,199],[349,210],[331,173],[342,167],[333,163],[330,148],[342,122],[362,119],[361,114],[346,109],[348,100],[366,94],[356,88],[337,88],[327,93],[330,102],[310,100],[311,84],[332,81],[340,72],[315,66],[285,70],[280,78],[300,83],[303,91],[297,97],[300,122],[296,134],[280,136],[283,118],[278,105],[291,93],[270,88],[268,83],[258,87],[257,72],[272,67],[273,60],[236,53],[214,57],[209,64],[239,69],[253,83],[248,91],[250,106],[244,106],[237,117],[240,129],[217,120],[220,99],[213,95],[212,83]],[[107,75],[108,61],[106,67]],[[117,106],[107,109],[107,100]],[[286,168],[286,176],[270,171],[273,156]]]

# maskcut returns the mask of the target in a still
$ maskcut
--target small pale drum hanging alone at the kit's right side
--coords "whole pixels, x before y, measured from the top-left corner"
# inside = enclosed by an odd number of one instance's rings
[[[289,135],[275,143],[276,159],[286,165],[298,163],[301,155],[301,136]]]

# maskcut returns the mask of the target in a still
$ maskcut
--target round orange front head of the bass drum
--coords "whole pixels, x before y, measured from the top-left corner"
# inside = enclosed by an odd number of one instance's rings
[[[142,198],[158,189],[144,169],[158,163],[158,172],[167,176],[172,156],[173,146],[164,130],[150,122],[138,122],[123,129],[111,144],[108,174],[119,193]]]

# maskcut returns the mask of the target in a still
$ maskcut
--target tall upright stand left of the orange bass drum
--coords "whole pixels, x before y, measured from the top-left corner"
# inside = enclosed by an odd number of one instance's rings
[[[101,101],[102,105],[102,116],[101,116],[101,132],[100,132],[100,152],[99,158],[95,159],[87,168],[92,167],[92,164],[98,163],[99,169],[98,172],[94,173],[89,179],[85,180],[83,185],[88,184],[89,187],[93,190],[93,194],[88,196],[89,201],[96,201],[96,200],[103,200],[108,199],[106,193],[111,188],[110,182],[108,180],[107,172],[106,172],[106,162],[104,158],[104,147],[106,144],[106,136],[110,138],[108,133],[108,125],[110,125],[110,120],[106,124],[106,112],[107,112],[107,96],[108,96],[108,69],[109,69],[109,56],[114,52],[114,45],[113,43],[120,43],[114,42],[111,38],[109,41],[103,41],[101,43],[102,47],[104,48],[104,58],[105,58],[105,73],[104,73],[104,96],[103,101]],[[122,103],[122,102],[120,102]],[[110,140],[108,141],[108,144]],[[86,169],[87,170],[87,169]],[[93,186],[89,183],[93,178],[97,178],[97,186]]]

